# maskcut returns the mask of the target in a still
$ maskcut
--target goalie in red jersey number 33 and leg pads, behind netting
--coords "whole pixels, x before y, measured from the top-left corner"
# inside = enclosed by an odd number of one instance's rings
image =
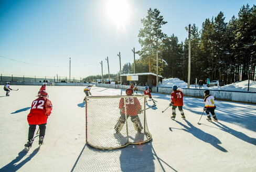
[[[132,95],[132,93],[133,90],[131,88],[126,90],[126,95]],[[135,130],[140,133],[143,129],[140,118],[138,117],[138,113],[141,113],[141,104],[137,98],[125,98],[125,100],[127,118],[131,116]],[[121,98],[119,102],[119,109],[121,116],[114,127],[116,133],[119,133],[125,124],[124,98]]]

